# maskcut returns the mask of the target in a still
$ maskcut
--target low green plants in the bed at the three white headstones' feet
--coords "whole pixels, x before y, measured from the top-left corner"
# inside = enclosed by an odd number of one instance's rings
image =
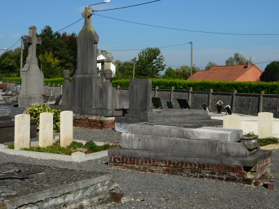
[[[98,146],[93,141],[87,141],[86,144],[82,144],[77,141],[73,141],[69,146],[63,148],[60,146],[60,141],[57,140],[51,146],[47,146],[45,148],[42,147],[31,147],[31,148],[22,148],[21,150],[33,151],[33,152],[40,152],[40,153],[52,153],[52,154],[61,154],[61,155],[71,155],[75,152],[82,152],[86,154],[96,153],[103,150],[108,150],[110,148],[116,148],[119,145],[117,144],[104,144]],[[14,144],[10,144],[8,148],[13,149],[15,148]]]

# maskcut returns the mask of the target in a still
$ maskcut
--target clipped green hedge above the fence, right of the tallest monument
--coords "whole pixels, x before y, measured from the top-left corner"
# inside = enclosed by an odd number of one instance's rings
[[[130,84],[129,79],[115,79],[112,80],[112,85],[121,88],[128,88]],[[210,91],[228,92],[232,93],[236,90],[238,93],[260,93],[264,91],[266,94],[279,94],[279,83],[274,82],[214,82],[214,81],[187,81],[183,79],[152,79],[152,88],[158,86],[160,89],[174,89],[193,91]]]

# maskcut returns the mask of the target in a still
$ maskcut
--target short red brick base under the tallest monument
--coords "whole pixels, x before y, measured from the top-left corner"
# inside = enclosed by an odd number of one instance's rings
[[[91,129],[102,130],[104,128],[114,129],[114,117],[92,116],[74,114],[73,125],[75,127],[85,127]]]

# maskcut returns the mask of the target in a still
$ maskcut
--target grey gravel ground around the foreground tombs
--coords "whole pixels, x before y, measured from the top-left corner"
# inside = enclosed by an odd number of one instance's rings
[[[89,130],[75,127],[74,138],[116,143],[120,141],[121,134],[110,129]],[[275,185],[275,189],[108,167],[108,157],[77,163],[0,153],[0,162],[112,173],[118,185],[116,192],[123,194],[121,203],[105,203],[98,208],[278,208],[279,150],[273,150],[272,156],[272,176],[264,182]]]

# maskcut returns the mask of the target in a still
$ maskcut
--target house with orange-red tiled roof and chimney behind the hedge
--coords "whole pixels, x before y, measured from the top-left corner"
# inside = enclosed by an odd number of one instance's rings
[[[246,65],[213,66],[210,70],[199,70],[188,80],[257,82],[261,75],[262,70],[247,61]]]

